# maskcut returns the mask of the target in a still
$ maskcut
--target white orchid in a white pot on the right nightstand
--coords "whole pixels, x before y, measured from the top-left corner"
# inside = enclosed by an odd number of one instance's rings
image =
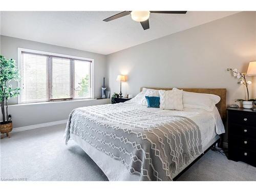
[[[237,69],[230,69],[228,68],[227,71],[230,71],[231,73],[233,73],[234,77],[237,77],[239,79],[238,84],[244,84],[247,90],[247,100],[244,99],[237,99],[237,101],[243,101],[243,108],[245,109],[252,109],[253,107],[253,101],[255,101],[255,99],[249,99],[249,91],[248,91],[248,86],[251,84],[251,81],[247,81],[245,74],[239,72]]]

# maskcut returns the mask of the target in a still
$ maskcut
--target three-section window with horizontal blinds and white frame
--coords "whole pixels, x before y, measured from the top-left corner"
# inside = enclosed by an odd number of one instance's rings
[[[18,49],[18,103],[93,98],[93,59]]]

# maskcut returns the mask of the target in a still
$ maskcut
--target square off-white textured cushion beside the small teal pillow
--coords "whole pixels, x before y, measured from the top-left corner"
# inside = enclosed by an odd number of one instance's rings
[[[160,109],[162,110],[183,110],[182,90],[160,90]]]

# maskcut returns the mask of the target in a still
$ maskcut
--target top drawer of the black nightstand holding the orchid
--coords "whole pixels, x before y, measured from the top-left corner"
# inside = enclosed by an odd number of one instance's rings
[[[232,123],[238,123],[241,125],[255,125],[256,124],[256,115],[250,113],[241,113],[236,111],[229,112],[229,121]]]

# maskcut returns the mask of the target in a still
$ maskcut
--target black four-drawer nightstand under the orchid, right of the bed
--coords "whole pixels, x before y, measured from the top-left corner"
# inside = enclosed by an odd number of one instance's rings
[[[256,111],[227,109],[228,159],[256,166]]]

